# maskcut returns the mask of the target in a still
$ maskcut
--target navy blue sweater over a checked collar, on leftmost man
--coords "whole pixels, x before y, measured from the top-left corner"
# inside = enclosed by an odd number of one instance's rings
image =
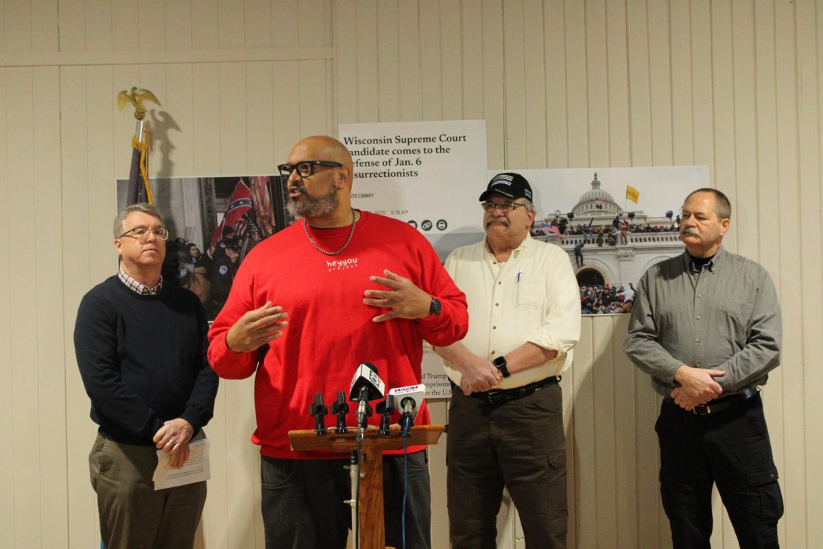
[[[198,297],[179,286],[139,295],[114,276],[92,288],[77,310],[74,351],[100,434],[150,445],[176,417],[197,434],[217,393],[207,331]]]

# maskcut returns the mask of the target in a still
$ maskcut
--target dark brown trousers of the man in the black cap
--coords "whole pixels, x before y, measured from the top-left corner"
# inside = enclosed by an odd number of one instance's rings
[[[560,385],[502,404],[453,388],[449,407],[449,532],[454,549],[494,549],[509,489],[528,549],[565,547],[565,433]]]

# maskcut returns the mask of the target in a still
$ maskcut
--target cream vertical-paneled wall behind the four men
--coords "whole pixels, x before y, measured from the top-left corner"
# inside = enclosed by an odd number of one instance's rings
[[[143,86],[163,103],[149,105],[152,175],[271,173],[338,122],[429,119],[486,119],[491,168],[709,165],[732,198],[727,247],[778,287],[783,365],[764,398],[780,541],[815,547],[821,27],[816,0],[0,0],[0,546],[99,542],[72,332],[81,296],[116,268],[113,182],[134,120],[115,95]],[[37,67],[21,63],[32,53]],[[671,547],[660,399],[621,352],[626,323],[585,319],[563,381],[570,547]],[[263,547],[252,402],[250,379],[221,382],[198,547]],[[430,463],[440,548],[444,446]],[[713,509],[713,547],[737,547]]]

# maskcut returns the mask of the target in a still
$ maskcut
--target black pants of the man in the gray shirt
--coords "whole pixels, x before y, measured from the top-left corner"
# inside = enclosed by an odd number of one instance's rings
[[[711,547],[713,484],[741,549],[779,547],[783,497],[759,394],[709,416],[664,401],[655,430],[660,493],[675,549]]]

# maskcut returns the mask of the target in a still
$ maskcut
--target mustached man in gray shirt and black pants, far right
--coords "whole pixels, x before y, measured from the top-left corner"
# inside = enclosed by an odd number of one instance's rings
[[[717,484],[737,540],[779,547],[783,498],[759,386],[780,364],[769,274],[721,246],[732,207],[712,188],[686,197],[686,253],[649,268],[623,350],[663,395],[655,430],[660,492],[678,547],[710,547]]]

